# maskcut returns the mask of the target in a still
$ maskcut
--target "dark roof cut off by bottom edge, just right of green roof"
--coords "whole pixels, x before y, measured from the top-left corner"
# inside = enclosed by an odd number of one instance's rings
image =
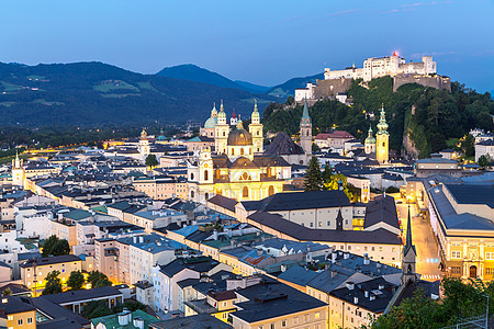
[[[223,322],[209,314],[200,314],[184,318],[175,318],[160,322],[150,324],[153,329],[231,329],[231,325]]]

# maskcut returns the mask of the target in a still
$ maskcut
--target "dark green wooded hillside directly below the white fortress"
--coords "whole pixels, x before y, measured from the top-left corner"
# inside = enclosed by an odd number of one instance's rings
[[[348,91],[353,99],[351,107],[326,100],[308,109],[314,134],[337,127],[363,140],[369,125],[377,132],[381,104],[384,104],[390,125],[391,148],[400,151],[404,146],[403,137],[409,136],[412,143],[408,150],[415,149],[419,157],[446,148],[447,141],[464,136],[473,127],[494,129],[491,116],[494,114],[494,101],[490,93],[476,93],[458,82],[452,83],[451,92],[416,83],[404,84],[393,92],[390,77],[370,81],[369,89],[359,86],[359,82],[355,81]],[[374,112],[375,121],[370,121],[366,115],[370,112]],[[300,105],[272,103],[265,110],[263,124],[271,132],[297,134],[301,115]]]

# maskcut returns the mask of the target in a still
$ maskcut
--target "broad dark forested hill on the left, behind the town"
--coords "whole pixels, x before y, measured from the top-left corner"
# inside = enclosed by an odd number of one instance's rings
[[[141,75],[102,63],[25,66],[0,63],[0,124],[22,126],[183,123],[204,121],[213,102],[250,115],[276,98]]]

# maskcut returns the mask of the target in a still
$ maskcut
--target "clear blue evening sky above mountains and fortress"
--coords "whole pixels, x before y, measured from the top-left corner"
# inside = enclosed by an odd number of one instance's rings
[[[273,86],[397,50],[494,89],[494,1],[1,0],[0,61],[99,60],[154,73],[195,64]]]

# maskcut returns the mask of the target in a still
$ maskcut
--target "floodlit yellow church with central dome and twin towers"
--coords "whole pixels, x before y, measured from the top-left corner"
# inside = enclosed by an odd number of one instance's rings
[[[215,152],[203,149],[198,163],[189,163],[189,198],[205,202],[220,194],[237,201],[257,201],[283,191],[291,167],[281,157],[262,156],[262,124],[257,104],[249,132],[238,120],[229,131],[223,103],[215,125]]]

